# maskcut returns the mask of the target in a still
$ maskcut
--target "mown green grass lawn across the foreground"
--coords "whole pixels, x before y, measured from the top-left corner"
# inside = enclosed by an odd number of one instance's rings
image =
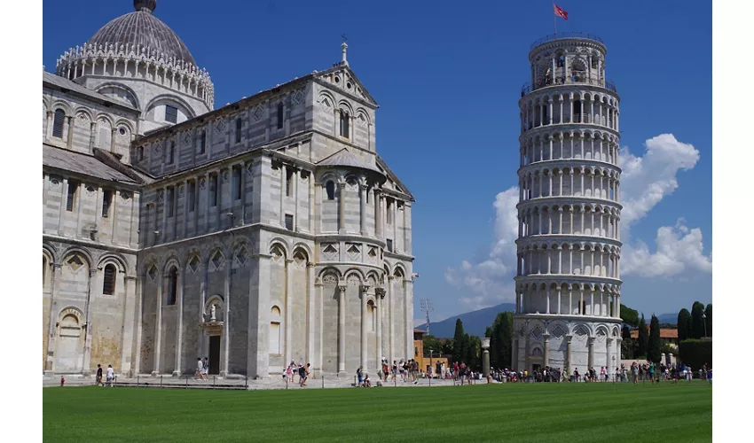
[[[45,388],[45,441],[711,441],[711,385]]]

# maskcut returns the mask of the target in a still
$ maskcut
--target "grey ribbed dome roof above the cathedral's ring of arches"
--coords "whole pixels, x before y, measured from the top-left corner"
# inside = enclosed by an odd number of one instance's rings
[[[168,25],[153,15],[157,0],[134,0],[135,12],[122,15],[107,23],[87,42],[87,45],[130,44],[157,51],[158,56],[176,58],[196,65],[185,43]]]

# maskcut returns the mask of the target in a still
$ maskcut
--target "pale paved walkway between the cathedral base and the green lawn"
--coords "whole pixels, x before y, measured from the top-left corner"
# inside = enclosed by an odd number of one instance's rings
[[[94,377],[82,376],[65,376],[66,386],[90,386],[94,385]],[[297,377],[296,377],[297,379]],[[476,384],[485,383],[483,380],[476,380]],[[491,382],[497,383],[497,382]],[[59,386],[60,377],[43,377],[43,387]],[[272,390],[272,389],[326,389],[326,388],[346,388],[354,386],[353,377],[327,377],[310,378],[305,387],[301,387],[297,382],[286,384],[282,377],[273,377],[266,380],[246,380],[245,378],[223,378],[209,376],[208,380],[194,380],[193,377],[171,377],[171,376],[139,376],[139,377],[116,377],[116,386],[130,387],[154,387],[154,388],[183,388],[183,389],[224,389],[224,390]],[[383,382],[382,387],[430,387],[430,386],[452,386],[458,385],[453,380],[429,380],[420,378],[416,383],[389,381]],[[373,382],[373,386],[377,387]]]

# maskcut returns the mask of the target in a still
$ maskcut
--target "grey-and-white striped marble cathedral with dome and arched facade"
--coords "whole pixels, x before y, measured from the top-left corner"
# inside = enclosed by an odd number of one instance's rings
[[[133,3],[43,72],[43,373],[412,358],[414,198],[348,46],[215,109],[156,0]]]

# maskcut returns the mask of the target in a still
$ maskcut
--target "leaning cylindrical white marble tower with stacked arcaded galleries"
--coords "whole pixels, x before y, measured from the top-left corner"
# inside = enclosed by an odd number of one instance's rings
[[[521,91],[513,361],[620,366],[620,97],[595,35],[531,45]]]

